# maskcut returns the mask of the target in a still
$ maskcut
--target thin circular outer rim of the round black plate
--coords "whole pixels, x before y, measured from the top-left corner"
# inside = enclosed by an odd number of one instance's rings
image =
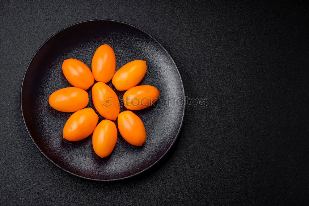
[[[159,159],[157,159],[154,163],[152,163],[150,166],[146,167],[145,169],[135,173],[135,174],[131,174],[129,176],[126,176],[126,177],[122,177],[122,178],[117,178],[117,179],[93,179],[93,178],[88,178],[88,177],[84,177],[84,176],[81,176],[81,175],[78,175],[78,174],[75,174],[73,172],[70,172],[66,169],[64,169],[63,167],[59,166],[58,164],[56,164],[55,162],[53,162],[41,149],[40,147],[36,144],[36,142],[34,141],[32,135],[30,134],[29,132],[29,129],[27,127],[27,124],[26,124],[26,120],[25,120],[25,116],[23,114],[23,99],[22,99],[22,96],[23,96],[23,86],[24,86],[24,81],[25,81],[25,77],[26,77],[26,74],[27,74],[27,71],[28,71],[28,68],[33,60],[33,58],[36,56],[36,54],[39,52],[39,50],[44,46],[44,44],[46,44],[51,38],[53,38],[53,36],[56,36],[58,33],[62,32],[63,30],[69,28],[69,27],[72,27],[72,26],[75,26],[77,24],[80,24],[80,23],[85,23],[85,22],[91,22],[91,21],[109,21],[109,22],[117,22],[117,23],[122,23],[122,24],[126,24],[128,26],[131,26],[133,28],[136,28],[138,30],[140,30],[141,32],[145,33],[147,36],[149,36],[151,39],[155,40],[156,43],[158,43],[160,45],[160,47],[163,48],[163,50],[167,53],[167,55],[171,58],[171,61],[174,63],[175,67],[176,67],[176,70],[177,70],[177,73],[180,77],[180,82],[181,82],[181,86],[182,86],[182,90],[183,90],[183,97],[185,99],[185,92],[184,92],[184,83],[182,81],[182,77],[181,77],[181,74],[179,72],[179,69],[174,61],[174,59],[171,57],[170,53],[168,53],[168,51],[163,47],[163,45],[158,41],[156,40],[153,36],[151,36],[149,33],[145,32],[144,30],[142,30],[141,28],[139,27],[136,27],[132,24],[129,24],[129,23],[125,23],[125,22],[121,22],[121,21],[117,21],[117,20],[112,20],[112,19],[92,19],[92,20],[86,20],[86,21],[82,21],[82,22],[78,22],[78,23],[74,23],[74,24],[71,24],[61,30],[59,30],[58,32],[54,33],[52,36],[50,36],[46,41],[44,41],[44,43],[36,50],[36,52],[34,53],[34,55],[32,56],[31,60],[29,61],[29,64],[25,70],[25,74],[23,75],[23,81],[22,81],[22,84],[21,84],[21,91],[20,91],[20,107],[21,107],[21,113],[22,113],[22,116],[23,116],[23,122],[25,124],[25,127],[27,129],[27,132],[32,140],[32,142],[34,143],[34,145],[36,145],[36,148],[44,155],[45,158],[47,158],[50,162],[52,162],[55,166],[57,166],[58,168],[60,168],[61,170],[64,170],[66,171],[67,173],[69,174],[72,174],[74,176],[77,176],[79,178],[83,178],[83,179],[88,179],[88,180],[93,180],[93,181],[100,181],[100,182],[111,182],[111,181],[117,181],[117,180],[123,180],[123,179],[127,179],[127,178],[131,178],[133,176],[136,176],[138,174],[141,174],[142,172],[148,170],[150,167],[154,166],[157,162],[159,162],[166,154],[167,152],[171,149],[171,147],[174,145],[176,139],[178,138],[179,136],[179,133],[180,133],[180,130],[182,128],[182,125],[183,125],[183,122],[184,122],[184,111],[185,111],[185,104],[183,106],[183,112],[182,112],[182,118],[181,118],[181,122],[180,122],[180,127],[177,131],[177,134],[176,134],[176,137],[174,138],[174,140],[172,141],[171,145],[167,148],[167,150],[161,155],[161,157]]]

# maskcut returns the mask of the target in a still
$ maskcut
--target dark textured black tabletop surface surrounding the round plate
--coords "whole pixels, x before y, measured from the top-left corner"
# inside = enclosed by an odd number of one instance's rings
[[[308,4],[0,1],[1,204],[305,203],[309,194]],[[113,19],[154,36],[189,98],[175,145],[153,168],[94,182],[54,166],[23,124],[33,54],[73,23]]]

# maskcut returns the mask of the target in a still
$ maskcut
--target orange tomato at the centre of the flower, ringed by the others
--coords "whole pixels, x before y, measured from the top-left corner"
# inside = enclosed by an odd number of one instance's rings
[[[103,82],[97,82],[92,87],[92,101],[95,109],[108,120],[116,120],[120,104],[114,90]]]

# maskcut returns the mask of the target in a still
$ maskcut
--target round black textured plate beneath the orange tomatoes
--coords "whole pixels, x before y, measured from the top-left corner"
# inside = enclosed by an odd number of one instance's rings
[[[49,95],[71,86],[61,70],[65,59],[79,59],[91,68],[93,54],[102,44],[114,49],[116,69],[135,59],[147,61],[147,73],[139,85],[157,87],[160,98],[184,100],[184,87],[175,62],[157,40],[127,23],[92,20],[57,32],[39,48],[23,79],[21,107],[34,144],[51,162],[79,177],[116,180],[138,174],[163,157],[180,131],[184,105],[151,106],[133,111],[145,124],[146,142],[141,147],[130,145],[118,132],[115,149],[107,158],[99,158],[94,153],[91,136],[77,142],[66,141],[62,138],[62,129],[72,113],[51,108]],[[108,85],[122,97],[124,92],[117,91],[111,82]],[[88,107],[94,108],[91,88],[87,92]],[[103,117],[99,115],[101,120]]]

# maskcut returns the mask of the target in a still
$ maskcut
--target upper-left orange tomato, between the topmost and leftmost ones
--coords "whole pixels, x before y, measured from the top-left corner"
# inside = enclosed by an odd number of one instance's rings
[[[95,82],[87,65],[77,59],[63,61],[62,72],[71,85],[83,90],[89,89]]]

